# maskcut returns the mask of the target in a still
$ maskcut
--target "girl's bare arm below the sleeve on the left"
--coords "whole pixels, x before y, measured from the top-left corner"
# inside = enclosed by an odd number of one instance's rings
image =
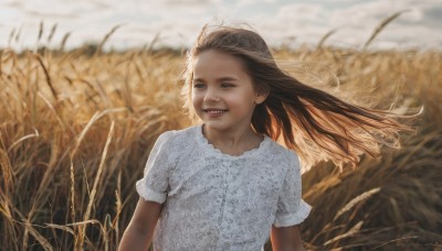
[[[140,197],[134,216],[123,234],[118,250],[147,250],[154,237],[161,209],[161,204],[145,201]]]

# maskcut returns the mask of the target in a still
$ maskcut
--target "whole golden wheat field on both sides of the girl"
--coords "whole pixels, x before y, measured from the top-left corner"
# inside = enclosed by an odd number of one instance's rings
[[[442,250],[442,53],[274,51],[294,76],[347,101],[423,107],[401,150],[303,175],[307,250]],[[2,250],[116,250],[152,143],[191,124],[183,64],[171,50],[0,51]]]

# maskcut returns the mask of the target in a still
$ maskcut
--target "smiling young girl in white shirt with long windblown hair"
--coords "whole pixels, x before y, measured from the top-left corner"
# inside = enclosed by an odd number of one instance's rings
[[[156,251],[261,250],[269,238],[273,250],[302,250],[297,225],[311,207],[298,156],[356,164],[409,130],[299,83],[245,29],[204,28],[185,76],[186,106],[202,123],[158,138],[120,250],[152,238]]]

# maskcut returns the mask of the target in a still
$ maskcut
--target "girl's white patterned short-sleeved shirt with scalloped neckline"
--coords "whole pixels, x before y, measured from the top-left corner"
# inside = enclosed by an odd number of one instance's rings
[[[294,152],[264,137],[257,149],[223,154],[201,126],[162,133],[136,188],[164,203],[156,251],[261,250],[272,225],[298,225],[311,210]]]

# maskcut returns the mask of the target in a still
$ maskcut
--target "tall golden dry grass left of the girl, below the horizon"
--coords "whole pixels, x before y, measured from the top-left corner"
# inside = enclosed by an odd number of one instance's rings
[[[0,56],[0,242],[115,249],[149,148],[187,124],[173,79],[181,61],[149,52]]]

